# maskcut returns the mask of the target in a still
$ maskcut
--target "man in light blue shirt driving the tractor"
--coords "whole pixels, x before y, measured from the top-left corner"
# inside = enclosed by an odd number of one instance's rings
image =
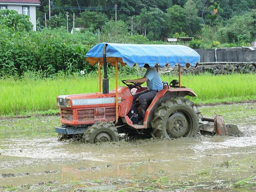
[[[138,99],[141,106],[142,120],[138,122],[139,125],[143,125],[145,112],[148,108],[148,102],[153,100],[157,92],[163,89],[162,80],[160,78],[160,75],[157,73],[156,68],[150,68],[148,64],[145,64],[144,67],[147,69],[147,71],[143,76],[143,78],[127,80],[127,83],[135,82],[137,84],[143,84],[144,82],[147,81],[148,89],[142,92],[136,93],[134,95],[134,100],[133,100],[133,102],[135,102]]]

